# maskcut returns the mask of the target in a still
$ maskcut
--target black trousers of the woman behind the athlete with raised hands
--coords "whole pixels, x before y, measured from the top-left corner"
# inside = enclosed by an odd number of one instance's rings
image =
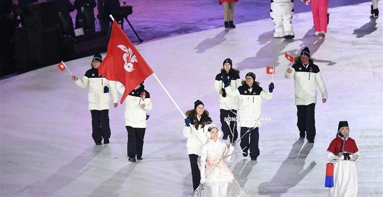
[[[235,113],[235,114],[234,114]],[[237,140],[238,138],[238,131],[237,131],[237,122],[235,121],[237,115],[237,110],[225,110],[225,109],[220,109],[220,119],[221,119],[221,130],[224,133],[224,137],[229,136],[230,137],[230,142],[232,143],[233,140]],[[234,136],[231,134],[229,125],[227,125],[225,118],[228,119],[230,117],[230,128],[234,133]]]

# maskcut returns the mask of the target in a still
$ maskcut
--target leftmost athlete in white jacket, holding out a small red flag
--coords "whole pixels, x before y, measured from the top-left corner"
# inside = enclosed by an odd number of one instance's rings
[[[109,81],[103,75],[99,77],[99,70],[102,62],[100,53],[94,54],[91,62],[92,68],[86,71],[85,76],[79,80],[77,76],[72,76],[76,85],[85,88],[89,84],[89,110],[92,115],[92,137],[96,145],[101,145],[104,138],[104,144],[109,144],[109,105],[110,94],[113,98],[114,107],[117,107],[117,91],[115,81]]]

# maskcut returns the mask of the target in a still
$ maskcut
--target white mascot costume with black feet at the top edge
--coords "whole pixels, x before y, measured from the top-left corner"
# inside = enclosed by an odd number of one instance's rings
[[[270,16],[274,21],[274,38],[294,38],[291,21],[294,15],[294,0],[271,0]]]

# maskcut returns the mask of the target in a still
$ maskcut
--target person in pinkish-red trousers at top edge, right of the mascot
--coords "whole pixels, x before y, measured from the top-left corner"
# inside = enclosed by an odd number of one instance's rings
[[[327,32],[328,0],[311,0],[310,3],[313,10],[314,36],[325,37]]]

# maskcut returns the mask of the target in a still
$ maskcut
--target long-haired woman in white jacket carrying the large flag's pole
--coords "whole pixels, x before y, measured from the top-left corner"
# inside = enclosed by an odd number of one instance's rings
[[[200,170],[198,168],[198,154],[201,146],[207,142],[206,132],[213,123],[209,117],[209,112],[205,110],[202,101],[194,102],[194,109],[185,113],[185,126],[183,128],[183,136],[187,138],[186,147],[189,155],[190,167],[192,168],[193,189],[197,189],[200,184]]]

